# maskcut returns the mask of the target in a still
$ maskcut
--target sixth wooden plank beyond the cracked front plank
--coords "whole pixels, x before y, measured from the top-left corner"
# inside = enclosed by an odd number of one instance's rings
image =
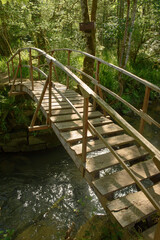
[[[83,114],[81,114],[81,115],[83,117]],[[102,116],[102,113],[100,113],[98,111],[88,113],[88,118],[97,118],[97,117],[101,117],[101,116]],[[78,119],[80,119],[80,117],[75,113],[75,114],[68,114],[68,115],[64,115],[64,116],[53,116],[50,119],[51,119],[52,122],[57,123],[57,122],[66,122],[66,121],[78,120]],[[111,120],[109,120],[109,121],[111,122]],[[71,123],[73,123],[73,122],[71,122]],[[70,123],[70,125],[71,125],[71,123]],[[59,126],[60,125],[64,126],[66,124],[68,125],[69,123],[68,122],[67,123],[61,123],[61,124],[59,124]],[[73,125],[74,125],[74,123],[72,124],[72,126]],[[75,125],[74,125],[74,127],[75,127]],[[68,128],[68,129],[70,129],[70,128]]]

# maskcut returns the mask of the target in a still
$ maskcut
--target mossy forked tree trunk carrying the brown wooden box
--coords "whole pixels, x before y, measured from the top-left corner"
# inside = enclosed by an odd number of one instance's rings
[[[84,23],[96,21],[96,11],[97,11],[97,2],[98,0],[92,0],[92,9],[91,9],[91,17],[89,16],[88,11],[88,2],[87,0],[81,0],[81,9],[82,9],[82,20]],[[85,33],[86,40],[86,52],[95,56],[96,44],[95,44],[95,33],[96,30],[92,29],[91,32]],[[94,70],[94,60],[85,57],[83,61],[83,71],[90,76],[93,76]],[[83,76],[83,81],[87,84],[90,83],[90,80]]]

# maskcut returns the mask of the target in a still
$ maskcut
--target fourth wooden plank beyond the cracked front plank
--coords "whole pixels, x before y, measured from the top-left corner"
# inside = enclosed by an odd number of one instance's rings
[[[123,132],[123,129],[114,123],[96,127],[96,129],[102,135]],[[83,130],[75,130],[64,133],[62,132],[61,135],[67,142],[79,141],[82,140]],[[87,137],[88,138],[92,137],[90,131],[87,132]]]

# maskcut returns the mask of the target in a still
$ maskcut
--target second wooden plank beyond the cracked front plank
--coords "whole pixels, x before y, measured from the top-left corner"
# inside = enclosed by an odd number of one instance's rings
[[[135,145],[119,149],[116,151],[116,153],[126,162],[136,160],[140,157],[145,157],[148,155],[148,152],[143,147],[138,148]],[[88,172],[94,172],[117,164],[119,164],[119,162],[113,156],[113,154],[107,153],[105,155],[100,155],[94,158],[87,159],[86,169],[88,170]]]

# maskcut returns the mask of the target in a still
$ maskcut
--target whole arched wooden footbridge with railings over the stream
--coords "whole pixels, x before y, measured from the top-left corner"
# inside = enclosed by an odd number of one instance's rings
[[[23,60],[25,51],[29,53],[29,65]],[[53,57],[53,54],[62,52],[68,53],[67,66]],[[71,66],[71,53],[94,59],[95,78]],[[142,110],[101,85],[100,64],[144,85]],[[111,219],[129,231],[144,225],[144,239],[159,240],[160,152],[141,133],[145,122],[160,127],[147,114],[150,91],[160,93],[160,88],[88,53],[71,49],[46,53],[37,48],[23,48],[9,59],[7,65],[11,84],[9,94],[27,93],[37,103],[29,131],[52,128]],[[22,78],[25,68],[29,69],[30,80]],[[94,91],[73,71],[87,77],[94,85]],[[64,79],[64,74],[66,85],[58,80]],[[73,90],[75,86],[78,86],[79,92]],[[141,133],[103,100],[104,92],[140,116]],[[39,110],[46,117],[45,125],[36,125]]]

